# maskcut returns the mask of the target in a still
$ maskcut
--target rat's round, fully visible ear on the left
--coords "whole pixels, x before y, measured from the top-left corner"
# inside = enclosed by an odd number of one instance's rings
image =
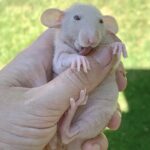
[[[49,28],[58,28],[61,26],[63,16],[64,12],[59,9],[47,9],[41,16],[41,22]]]

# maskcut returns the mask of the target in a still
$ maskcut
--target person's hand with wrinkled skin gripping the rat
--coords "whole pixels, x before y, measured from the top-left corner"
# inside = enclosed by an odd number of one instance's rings
[[[90,92],[112,68],[112,61],[102,67],[88,57],[92,68],[88,74],[68,69],[51,80],[54,33],[48,29],[0,71],[0,149],[43,150],[56,133],[70,97],[77,99],[85,88]],[[120,83],[120,87],[126,86],[126,82]],[[108,126],[117,129],[120,121],[116,111]],[[107,149],[107,139],[102,135],[85,142],[83,149],[93,146],[93,141]]]

